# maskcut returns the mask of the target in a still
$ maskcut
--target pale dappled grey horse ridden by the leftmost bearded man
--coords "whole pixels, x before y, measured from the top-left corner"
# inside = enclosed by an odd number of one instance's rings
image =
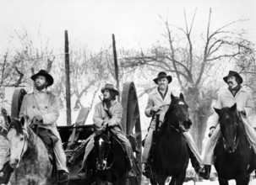
[[[15,172],[12,184],[57,184],[57,178],[52,177],[52,163],[42,140],[25,123],[24,118],[8,117],[8,123],[9,164]]]

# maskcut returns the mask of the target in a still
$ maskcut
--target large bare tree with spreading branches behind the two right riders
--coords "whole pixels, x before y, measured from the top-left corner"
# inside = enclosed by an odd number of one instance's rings
[[[212,113],[211,100],[217,92],[216,86],[210,79],[210,76],[212,78],[218,76],[219,71],[213,71],[215,64],[241,56],[246,50],[248,41],[242,38],[243,31],[231,29],[242,20],[225,24],[219,29],[211,29],[211,9],[206,34],[203,34],[199,40],[193,35],[195,15],[196,10],[191,24],[188,24],[184,10],[184,28],[169,24],[168,20],[163,21],[166,29],[163,34],[166,45],[154,45],[146,53],[141,50],[136,55],[126,57],[123,66],[131,68],[149,66],[154,71],[169,71],[175,74],[188,100],[193,120],[191,132],[201,151],[206,121]]]

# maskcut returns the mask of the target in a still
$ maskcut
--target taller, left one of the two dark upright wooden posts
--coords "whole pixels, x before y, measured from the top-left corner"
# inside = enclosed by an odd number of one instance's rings
[[[65,30],[65,75],[66,75],[66,105],[67,105],[67,125],[71,125],[71,103],[70,103],[70,78],[69,78],[69,51],[68,51],[68,31]]]

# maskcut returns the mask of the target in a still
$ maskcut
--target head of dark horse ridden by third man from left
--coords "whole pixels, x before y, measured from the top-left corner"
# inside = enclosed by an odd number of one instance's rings
[[[166,112],[166,119],[169,119],[168,122],[172,124],[172,127],[175,129],[187,131],[192,124],[189,119],[188,104],[182,93],[180,93],[179,97],[175,97],[171,94],[171,99],[172,102]]]

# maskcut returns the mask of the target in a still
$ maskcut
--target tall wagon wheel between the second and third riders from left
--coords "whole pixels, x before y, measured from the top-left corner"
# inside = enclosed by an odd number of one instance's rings
[[[136,146],[136,161],[139,170],[137,172],[137,182],[141,182],[141,128],[139,119],[139,103],[136,93],[136,88],[133,82],[123,84],[122,94],[123,117],[122,127],[126,135],[132,136],[135,139]],[[133,150],[134,151],[134,150]]]

